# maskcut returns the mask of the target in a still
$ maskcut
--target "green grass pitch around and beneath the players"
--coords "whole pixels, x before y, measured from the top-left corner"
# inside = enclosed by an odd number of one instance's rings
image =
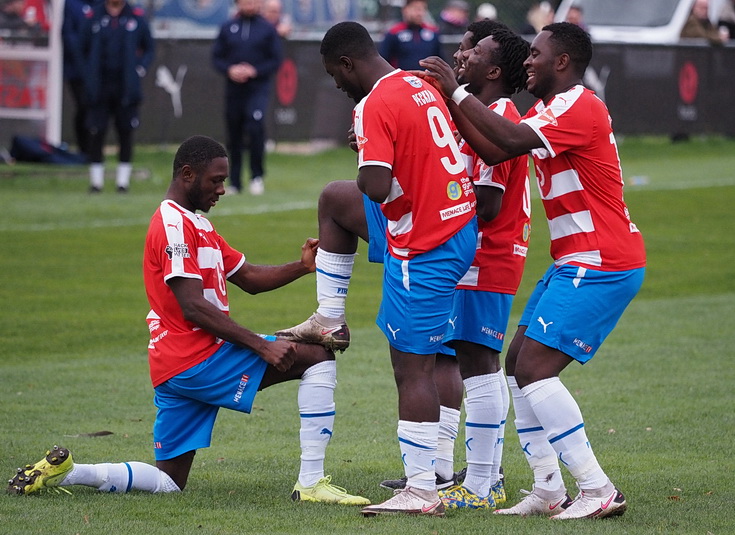
[[[142,286],[147,221],[168,181],[172,153],[140,147],[132,188],[90,196],[86,169],[0,167],[0,475],[61,444],[77,462],[152,462],[155,416],[146,362]],[[639,296],[597,357],[563,374],[602,466],[626,494],[621,518],[551,524],[473,511],[445,519],[362,518],[356,508],[296,504],[296,383],[258,395],[251,415],[222,411],[213,447],[201,450],[185,492],[0,496],[0,533],[713,533],[735,513],[733,367],[735,141],[663,138],[620,143],[626,201],[646,239]],[[255,263],[298,256],[315,236],[322,186],[355,176],[346,149],[273,154],[266,193],[223,197],[210,218]],[[543,209],[534,229],[511,325],[549,264]],[[396,395],[387,345],[374,326],[379,266],[361,246],[350,287],[353,345],[338,356],[338,416],[327,451],[333,482],[374,502],[378,483],[402,475]],[[293,325],[314,309],[313,276],[259,296],[231,294],[232,315],[260,332]],[[512,328],[510,329],[512,333]],[[504,467],[509,504],[532,479],[508,418]],[[85,434],[111,431],[107,436]],[[461,439],[461,437],[460,437]],[[456,466],[464,464],[458,440]],[[565,473],[565,477],[567,474]],[[567,478],[570,493],[575,489]]]

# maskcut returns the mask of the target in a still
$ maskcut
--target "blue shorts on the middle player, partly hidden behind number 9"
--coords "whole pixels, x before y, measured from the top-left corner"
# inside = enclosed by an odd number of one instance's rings
[[[514,297],[497,292],[456,290],[444,343],[463,340],[500,353]],[[441,352],[444,353],[445,349]]]

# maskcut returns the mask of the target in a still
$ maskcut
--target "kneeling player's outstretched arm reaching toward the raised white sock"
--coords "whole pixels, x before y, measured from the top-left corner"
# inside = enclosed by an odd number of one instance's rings
[[[301,259],[278,266],[265,266],[245,262],[227,279],[249,294],[275,290],[316,270],[316,250],[319,240],[308,238],[301,246]]]

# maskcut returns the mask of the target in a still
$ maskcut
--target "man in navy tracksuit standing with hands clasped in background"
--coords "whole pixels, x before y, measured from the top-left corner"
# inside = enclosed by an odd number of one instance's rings
[[[271,23],[260,16],[261,0],[236,0],[237,14],[220,28],[214,43],[214,67],[227,77],[225,121],[230,153],[230,182],[240,191],[243,132],[249,138],[250,193],[263,193],[265,112],[270,80],[283,57]]]

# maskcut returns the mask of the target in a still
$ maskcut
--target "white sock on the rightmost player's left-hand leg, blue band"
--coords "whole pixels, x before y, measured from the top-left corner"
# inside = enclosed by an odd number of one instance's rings
[[[546,438],[546,430],[536,418],[512,375],[508,376],[508,388],[513,396],[516,432],[521,441],[521,449],[533,470],[534,488],[550,492],[564,488],[556,452]]]

